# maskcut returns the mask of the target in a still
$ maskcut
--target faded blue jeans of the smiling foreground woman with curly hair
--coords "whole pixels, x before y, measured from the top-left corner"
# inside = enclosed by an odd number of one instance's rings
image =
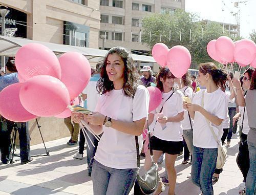
[[[125,195],[131,191],[137,168],[116,169],[106,167],[96,160],[93,163],[92,180],[95,195]]]

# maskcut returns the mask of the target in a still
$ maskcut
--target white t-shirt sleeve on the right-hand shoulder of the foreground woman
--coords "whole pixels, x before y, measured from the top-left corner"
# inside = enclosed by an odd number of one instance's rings
[[[150,95],[143,85],[138,85],[133,99],[133,121],[147,118]]]

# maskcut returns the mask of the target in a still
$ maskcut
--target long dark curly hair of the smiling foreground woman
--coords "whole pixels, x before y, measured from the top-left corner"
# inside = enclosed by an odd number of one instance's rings
[[[106,73],[106,63],[108,61],[108,56],[114,53],[118,54],[124,63],[124,83],[122,87],[123,93],[127,97],[133,97],[139,83],[139,76],[135,71],[136,68],[131,54],[123,47],[114,47],[110,49],[108,54],[106,54],[101,67],[101,78],[97,83],[97,91],[99,93],[105,94],[114,89],[113,81],[109,79],[109,76]]]

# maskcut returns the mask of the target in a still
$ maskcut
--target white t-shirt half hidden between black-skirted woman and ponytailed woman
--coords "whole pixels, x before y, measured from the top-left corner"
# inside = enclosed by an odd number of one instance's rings
[[[191,101],[192,101],[194,92],[193,92],[193,89],[190,88],[190,86],[184,86],[184,88],[182,88],[181,91],[183,92],[183,94],[186,97],[189,97],[191,99]],[[193,128],[194,120],[192,118],[190,118],[190,119],[191,119],[191,125],[192,125],[192,128]],[[187,110],[185,110],[185,112],[184,112],[184,119],[181,121],[181,124],[182,124],[182,129],[183,130],[191,129],[191,125],[190,125],[190,121],[189,121],[188,111]]]

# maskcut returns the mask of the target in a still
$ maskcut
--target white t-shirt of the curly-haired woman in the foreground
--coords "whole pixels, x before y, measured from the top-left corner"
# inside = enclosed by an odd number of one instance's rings
[[[112,90],[100,96],[95,111],[115,120],[133,122],[147,117],[149,99],[143,85],[138,85],[134,98],[125,96],[123,90]],[[138,140],[141,149],[142,136]],[[95,159],[111,168],[137,168],[135,136],[103,125]]]

